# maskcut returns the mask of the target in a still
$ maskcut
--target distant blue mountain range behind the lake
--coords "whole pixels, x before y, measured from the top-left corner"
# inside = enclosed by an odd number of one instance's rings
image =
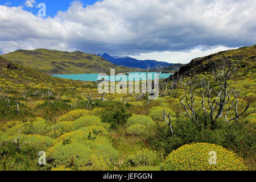
[[[163,67],[168,67],[172,65],[172,63],[166,63],[163,61],[156,61],[156,60],[137,60],[133,57],[118,57],[118,56],[110,56],[108,53],[99,54],[98,56],[103,57],[104,59],[108,60],[110,63],[114,63],[116,65],[122,65],[125,67],[130,68],[141,68],[147,69],[148,66],[150,69],[155,69],[156,65],[162,65]]]

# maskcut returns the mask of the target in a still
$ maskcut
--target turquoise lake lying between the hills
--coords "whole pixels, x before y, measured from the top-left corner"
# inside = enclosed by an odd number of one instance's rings
[[[149,72],[148,77],[154,80],[156,72]],[[172,73],[160,73],[159,78],[168,78]],[[102,76],[100,73],[95,74],[71,74],[71,75],[52,75],[54,77],[59,78],[66,78],[71,80],[82,80],[82,81],[98,81],[104,78],[105,80],[108,79],[109,81],[118,81],[122,80],[122,77],[126,77],[127,81],[141,81],[147,80],[147,72],[129,72],[129,75],[122,75],[122,76]]]

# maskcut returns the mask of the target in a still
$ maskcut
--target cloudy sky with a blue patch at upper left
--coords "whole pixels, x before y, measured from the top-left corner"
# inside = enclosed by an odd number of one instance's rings
[[[49,48],[188,63],[256,44],[255,10],[255,0],[1,0],[0,54]]]

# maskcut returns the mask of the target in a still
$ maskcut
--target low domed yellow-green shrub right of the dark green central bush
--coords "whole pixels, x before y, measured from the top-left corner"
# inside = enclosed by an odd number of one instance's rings
[[[147,126],[147,127],[155,126],[155,122],[150,117],[147,117],[145,115],[133,115],[128,119],[126,126],[131,126],[136,123]]]

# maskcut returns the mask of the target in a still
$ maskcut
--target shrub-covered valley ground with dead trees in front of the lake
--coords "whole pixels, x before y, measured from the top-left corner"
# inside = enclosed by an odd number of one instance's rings
[[[99,94],[96,82],[0,57],[0,170],[255,170],[252,49],[241,49],[251,59],[223,55],[229,64],[213,72],[160,81],[156,100]]]

